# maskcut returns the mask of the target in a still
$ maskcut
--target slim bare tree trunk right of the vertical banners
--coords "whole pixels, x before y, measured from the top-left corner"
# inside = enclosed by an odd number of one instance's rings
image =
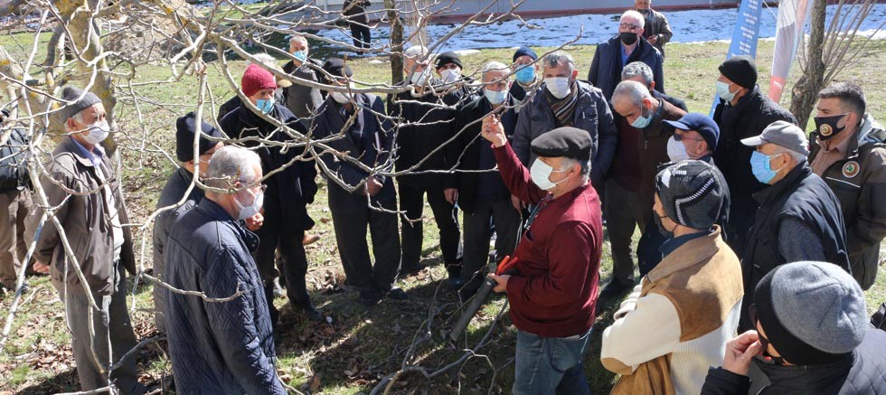
[[[809,45],[806,48],[806,67],[800,79],[791,89],[791,113],[801,128],[806,128],[809,115],[818,99],[818,91],[825,80],[825,0],[815,0],[812,5],[812,23],[809,27]]]

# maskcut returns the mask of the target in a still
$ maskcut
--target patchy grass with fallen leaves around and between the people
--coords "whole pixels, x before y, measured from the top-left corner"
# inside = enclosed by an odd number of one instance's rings
[[[24,51],[33,39],[30,34],[0,36],[0,45],[7,51]],[[45,42],[48,37],[41,37]],[[515,43],[516,44],[516,43]],[[713,97],[713,81],[717,77],[716,66],[722,61],[727,44],[722,42],[702,44],[670,44],[665,62],[665,88],[669,94],[686,99],[693,111],[707,112]],[[536,48],[547,51],[549,48]],[[579,63],[580,77],[589,69],[593,56],[592,46],[569,47],[568,50]],[[513,50],[490,49],[463,57],[466,70],[477,70],[486,61],[507,61]],[[760,42],[758,63],[760,85],[768,84],[768,69],[773,51],[772,42]],[[321,56],[333,53],[326,50]],[[17,56],[21,56],[20,54]],[[38,53],[37,59],[42,59]],[[371,61],[382,60],[382,64]],[[864,55],[851,64],[839,80],[854,79],[862,83],[869,101],[869,112],[875,118],[886,119],[886,85],[882,73],[876,71],[886,61],[886,41],[871,42]],[[381,58],[351,60],[358,80],[383,82],[390,80],[390,67]],[[242,61],[232,61],[232,75],[239,80]],[[210,64],[212,101],[216,106],[231,95],[230,86],[221,79],[217,64]],[[122,100],[118,103],[116,116],[120,127],[127,131],[122,154],[125,164],[124,178],[127,186],[127,202],[135,221],[144,221],[156,204],[157,195],[167,174],[174,168],[172,159],[160,150],[172,152],[174,148],[174,119],[193,110],[196,102],[196,80],[193,76],[181,81],[165,82],[171,71],[157,66],[146,66],[137,72],[137,80],[158,81],[140,92],[158,104],[135,103]],[[35,73],[39,75],[39,73]],[[788,85],[796,80],[796,68]],[[787,106],[789,94],[782,99]],[[209,108],[206,108],[208,110]],[[143,118],[139,120],[137,113]],[[206,118],[211,118],[208,114]],[[808,128],[807,128],[808,129]],[[446,270],[441,267],[437,229],[426,209],[423,261],[429,268],[417,276],[401,281],[410,294],[403,302],[384,301],[381,305],[364,308],[356,303],[356,295],[344,284],[344,273],[335,247],[331,215],[325,206],[325,185],[316,202],[309,206],[316,220],[316,232],[323,239],[307,250],[311,270],[308,286],[316,304],[332,315],[332,324],[312,324],[283,309],[282,329],[278,340],[278,370],[284,381],[297,389],[326,394],[355,394],[367,392],[383,376],[397,371],[403,362],[406,349],[415,336],[428,335],[419,343],[410,364],[420,364],[434,370],[455,361],[465,348],[473,347],[493,324],[493,319],[504,305],[504,298],[494,297],[478,314],[467,331],[467,339],[457,344],[445,340],[443,330],[451,325],[457,309],[457,300],[445,292]],[[146,267],[150,266],[150,225],[137,229],[137,255],[143,253]],[[391,235],[393,237],[393,235]],[[600,268],[601,283],[611,276],[611,259],[608,247]],[[881,269],[883,263],[881,262]],[[58,296],[45,277],[32,277],[32,292],[25,296],[13,325],[12,338],[0,353],[0,388],[21,393],[46,393],[77,390],[76,373],[71,357],[70,336],[62,318],[62,306]],[[154,332],[151,286],[140,283],[127,302],[137,335]],[[886,275],[882,273],[876,284],[866,292],[868,306],[886,300]],[[584,357],[591,390],[606,392],[615,376],[599,363],[599,334],[611,324],[611,314],[617,300],[605,301],[598,315],[593,343]],[[278,298],[278,307],[286,300]],[[9,298],[0,301],[0,314],[9,308]],[[439,314],[432,314],[439,308]],[[432,318],[432,319],[429,319]],[[476,357],[460,369],[450,371],[433,379],[410,373],[401,376],[394,384],[397,393],[507,393],[514,380],[513,363],[515,330],[510,320],[504,319],[493,328],[490,343],[481,350],[488,357]],[[164,353],[156,346],[141,353],[142,380],[158,382],[168,374],[169,366]]]

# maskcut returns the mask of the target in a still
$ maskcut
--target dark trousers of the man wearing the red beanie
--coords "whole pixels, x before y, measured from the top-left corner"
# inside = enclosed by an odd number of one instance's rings
[[[305,206],[293,206],[291,202],[281,202],[276,184],[268,183],[264,202],[264,224],[256,231],[259,235],[259,249],[255,252],[256,265],[266,289],[273,287],[273,280],[278,276],[275,268],[276,251],[280,252],[280,273],[286,279],[286,294],[289,304],[293,307],[310,306],[311,299],[307,295],[305,276],[307,274],[307,256],[302,240],[305,237]],[[273,292],[265,292],[269,296],[268,306],[271,315],[275,312]]]

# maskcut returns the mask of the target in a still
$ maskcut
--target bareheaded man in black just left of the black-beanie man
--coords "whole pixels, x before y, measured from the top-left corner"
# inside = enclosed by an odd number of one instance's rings
[[[460,90],[441,92],[443,82],[432,77],[428,68],[428,49],[410,47],[403,52],[403,71],[407,80],[401,87],[406,90],[388,95],[389,116],[395,119],[395,127],[399,127],[395,133],[398,173],[441,171],[452,167],[446,163],[445,144],[453,136],[455,110],[451,107],[463,100],[463,93]],[[455,204],[447,202],[444,183],[444,174],[440,173],[403,174],[398,179],[400,210],[406,212],[401,217],[403,274],[415,273],[422,268],[419,265],[423,237],[421,212],[427,194],[439,229],[443,263],[448,268],[449,278],[460,277],[462,251],[458,211]]]

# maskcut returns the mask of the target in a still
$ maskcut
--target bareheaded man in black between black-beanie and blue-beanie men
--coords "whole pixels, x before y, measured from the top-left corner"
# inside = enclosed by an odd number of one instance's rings
[[[495,262],[514,252],[520,234],[520,208],[511,202],[511,193],[502,176],[495,172],[495,155],[488,143],[477,138],[483,118],[495,113],[508,138],[514,136],[517,114],[509,97],[510,69],[504,63],[490,61],[481,72],[483,97],[458,108],[453,129],[456,141],[449,145],[447,163],[456,165],[457,173],[448,177],[444,191],[448,202],[458,202],[464,214],[465,255],[459,281],[463,300],[473,296],[483,283],[489,260],[489,223],[495,224]],[[478,172],[486,170],[486,172]]]

